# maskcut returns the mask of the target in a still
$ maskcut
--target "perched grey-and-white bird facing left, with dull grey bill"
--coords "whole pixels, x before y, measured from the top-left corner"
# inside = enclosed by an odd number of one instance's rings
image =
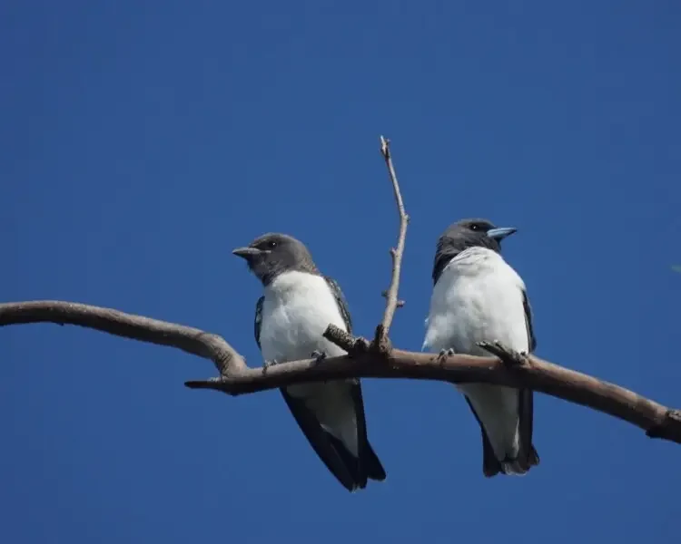
[[[264,287],[255,306],[255,341],[265,366],[345,355],[322,336],[330,324],[351,333],[348,304],[341,287],[322,276],[301,241],[265,234],[234,255],[246,259]],[[367,438],[359,379],[297,384],[280,389],[312,448],[348,491],[386,473]]]

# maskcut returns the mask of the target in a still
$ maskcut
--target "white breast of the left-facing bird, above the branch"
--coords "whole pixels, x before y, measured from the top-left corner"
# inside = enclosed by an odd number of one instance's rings
[[[315,350],[343,355],[322,337],[329,324],[346,330],[336,299],[321,276],[285,272],[265,287],[261,348],[265,361],[308,359]]]

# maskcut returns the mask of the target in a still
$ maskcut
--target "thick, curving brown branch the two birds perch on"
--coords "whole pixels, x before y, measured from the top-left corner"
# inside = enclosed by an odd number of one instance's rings
[[[331,327],[327,335],[344,344],[351,355],[331,357],[324,364],[310,360],[249,368],[222,337],[199,329],[133,316],[98,306],[54,300],[0,304],[0,326],[27,323],[80,325],[112,335],[168,345],[211,359],[221,377],[187,382],[192,389],[212,389],[230,395],[257,393],[276,387],[343,378],[437,380],[454,384],[488,383],[532,389],[608,413],[646,431],[653,438],[681,443],[681,413],[615,384],[528,356],[509,366],[496,357],[407,352],[392,349],[381,355],[366,349],[366,341],[350,338]],[[364,348],[358,347],[364,345]],[[375,364],[387,356],[388,364]]]

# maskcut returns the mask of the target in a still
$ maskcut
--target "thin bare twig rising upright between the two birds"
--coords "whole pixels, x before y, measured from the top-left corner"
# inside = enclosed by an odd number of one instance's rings
[[[390,277],[390,287],[385,292],[386,305],[383,319],[376,327],[376,335],[374,336],[374,345],[383,353],[387,353],[390,349],[388,342],[388,332],[392,324],[392,318],[395,316],[395,310],[404,306],[404,301],[398,298],[398,291],[400,289],[400,269],[402,267],[402,256],[404,255],[404,242],[407,237],[407,224],[409,223],[409,216],[404,210],[404,202],[402,201],[402,194],[400,192],[400,183],[395,173],[395,166],[392,164],[392,156],[390,155],[390,140],[380,136],[380,153],[383,155],[390,181],[392,182],[392,191],[395,195],[395,203],[397,204],[398,214],[400,215],[400,233],[398,235],[398,243],[396,248],[390,248],[390,257],[392,258],[392,276]]]

